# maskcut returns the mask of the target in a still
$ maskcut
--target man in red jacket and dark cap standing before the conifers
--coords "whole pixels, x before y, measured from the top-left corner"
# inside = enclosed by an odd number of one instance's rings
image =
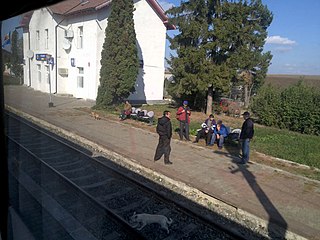
[[[177,118],[180,122],[180,140],[183,140],[183,136],[187,141],[190,141],[189,138],[189,124],[190,124],[190,115],[191,111],[188,106],[188,101],[183,101],[183,105],[178,108]]]

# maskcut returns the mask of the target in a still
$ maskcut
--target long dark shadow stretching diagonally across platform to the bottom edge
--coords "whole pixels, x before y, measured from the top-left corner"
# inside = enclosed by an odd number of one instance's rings
[[[281,216],[279,211],[259,186],[256,177],[249,171],[248,166],[240,165],[236,160],[233,160],[233,162],[238,164],[238,168],[231,168],[231,173],[234,174],[240,171],[243,174],[252,191],[256,194],[261,205],[269,215],[268,235],[270,239],[286,239],[286,230],[288,228],[286,220]],[[243,199],[243,201],[246,200]]]

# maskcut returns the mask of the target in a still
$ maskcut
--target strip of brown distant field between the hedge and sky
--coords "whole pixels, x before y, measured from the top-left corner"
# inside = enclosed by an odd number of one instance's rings
[[[320,75],[280,75],[270,74],[267,75],[265,84],[271,83],[273,86],[287,88],[288,86],[302,80],[308,86],[320,88]]]

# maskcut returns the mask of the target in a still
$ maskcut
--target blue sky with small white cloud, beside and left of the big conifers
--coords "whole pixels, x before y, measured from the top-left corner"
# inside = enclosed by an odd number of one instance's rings
[[[158,0],[164,10],[180,0]],[[273,55],[268,74],[320,75],[320,1],[262,0],[273,13],[264,51]],[[168,31],[169,36],[177,31]],[[170,55],[169,42],[166,57]]]

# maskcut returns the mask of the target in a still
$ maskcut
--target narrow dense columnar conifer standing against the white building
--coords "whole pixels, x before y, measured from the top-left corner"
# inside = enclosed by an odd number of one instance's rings
[[[120,103],[135,91],[139,72],[132,0],[113,0],[101,52],[97,108]]]

